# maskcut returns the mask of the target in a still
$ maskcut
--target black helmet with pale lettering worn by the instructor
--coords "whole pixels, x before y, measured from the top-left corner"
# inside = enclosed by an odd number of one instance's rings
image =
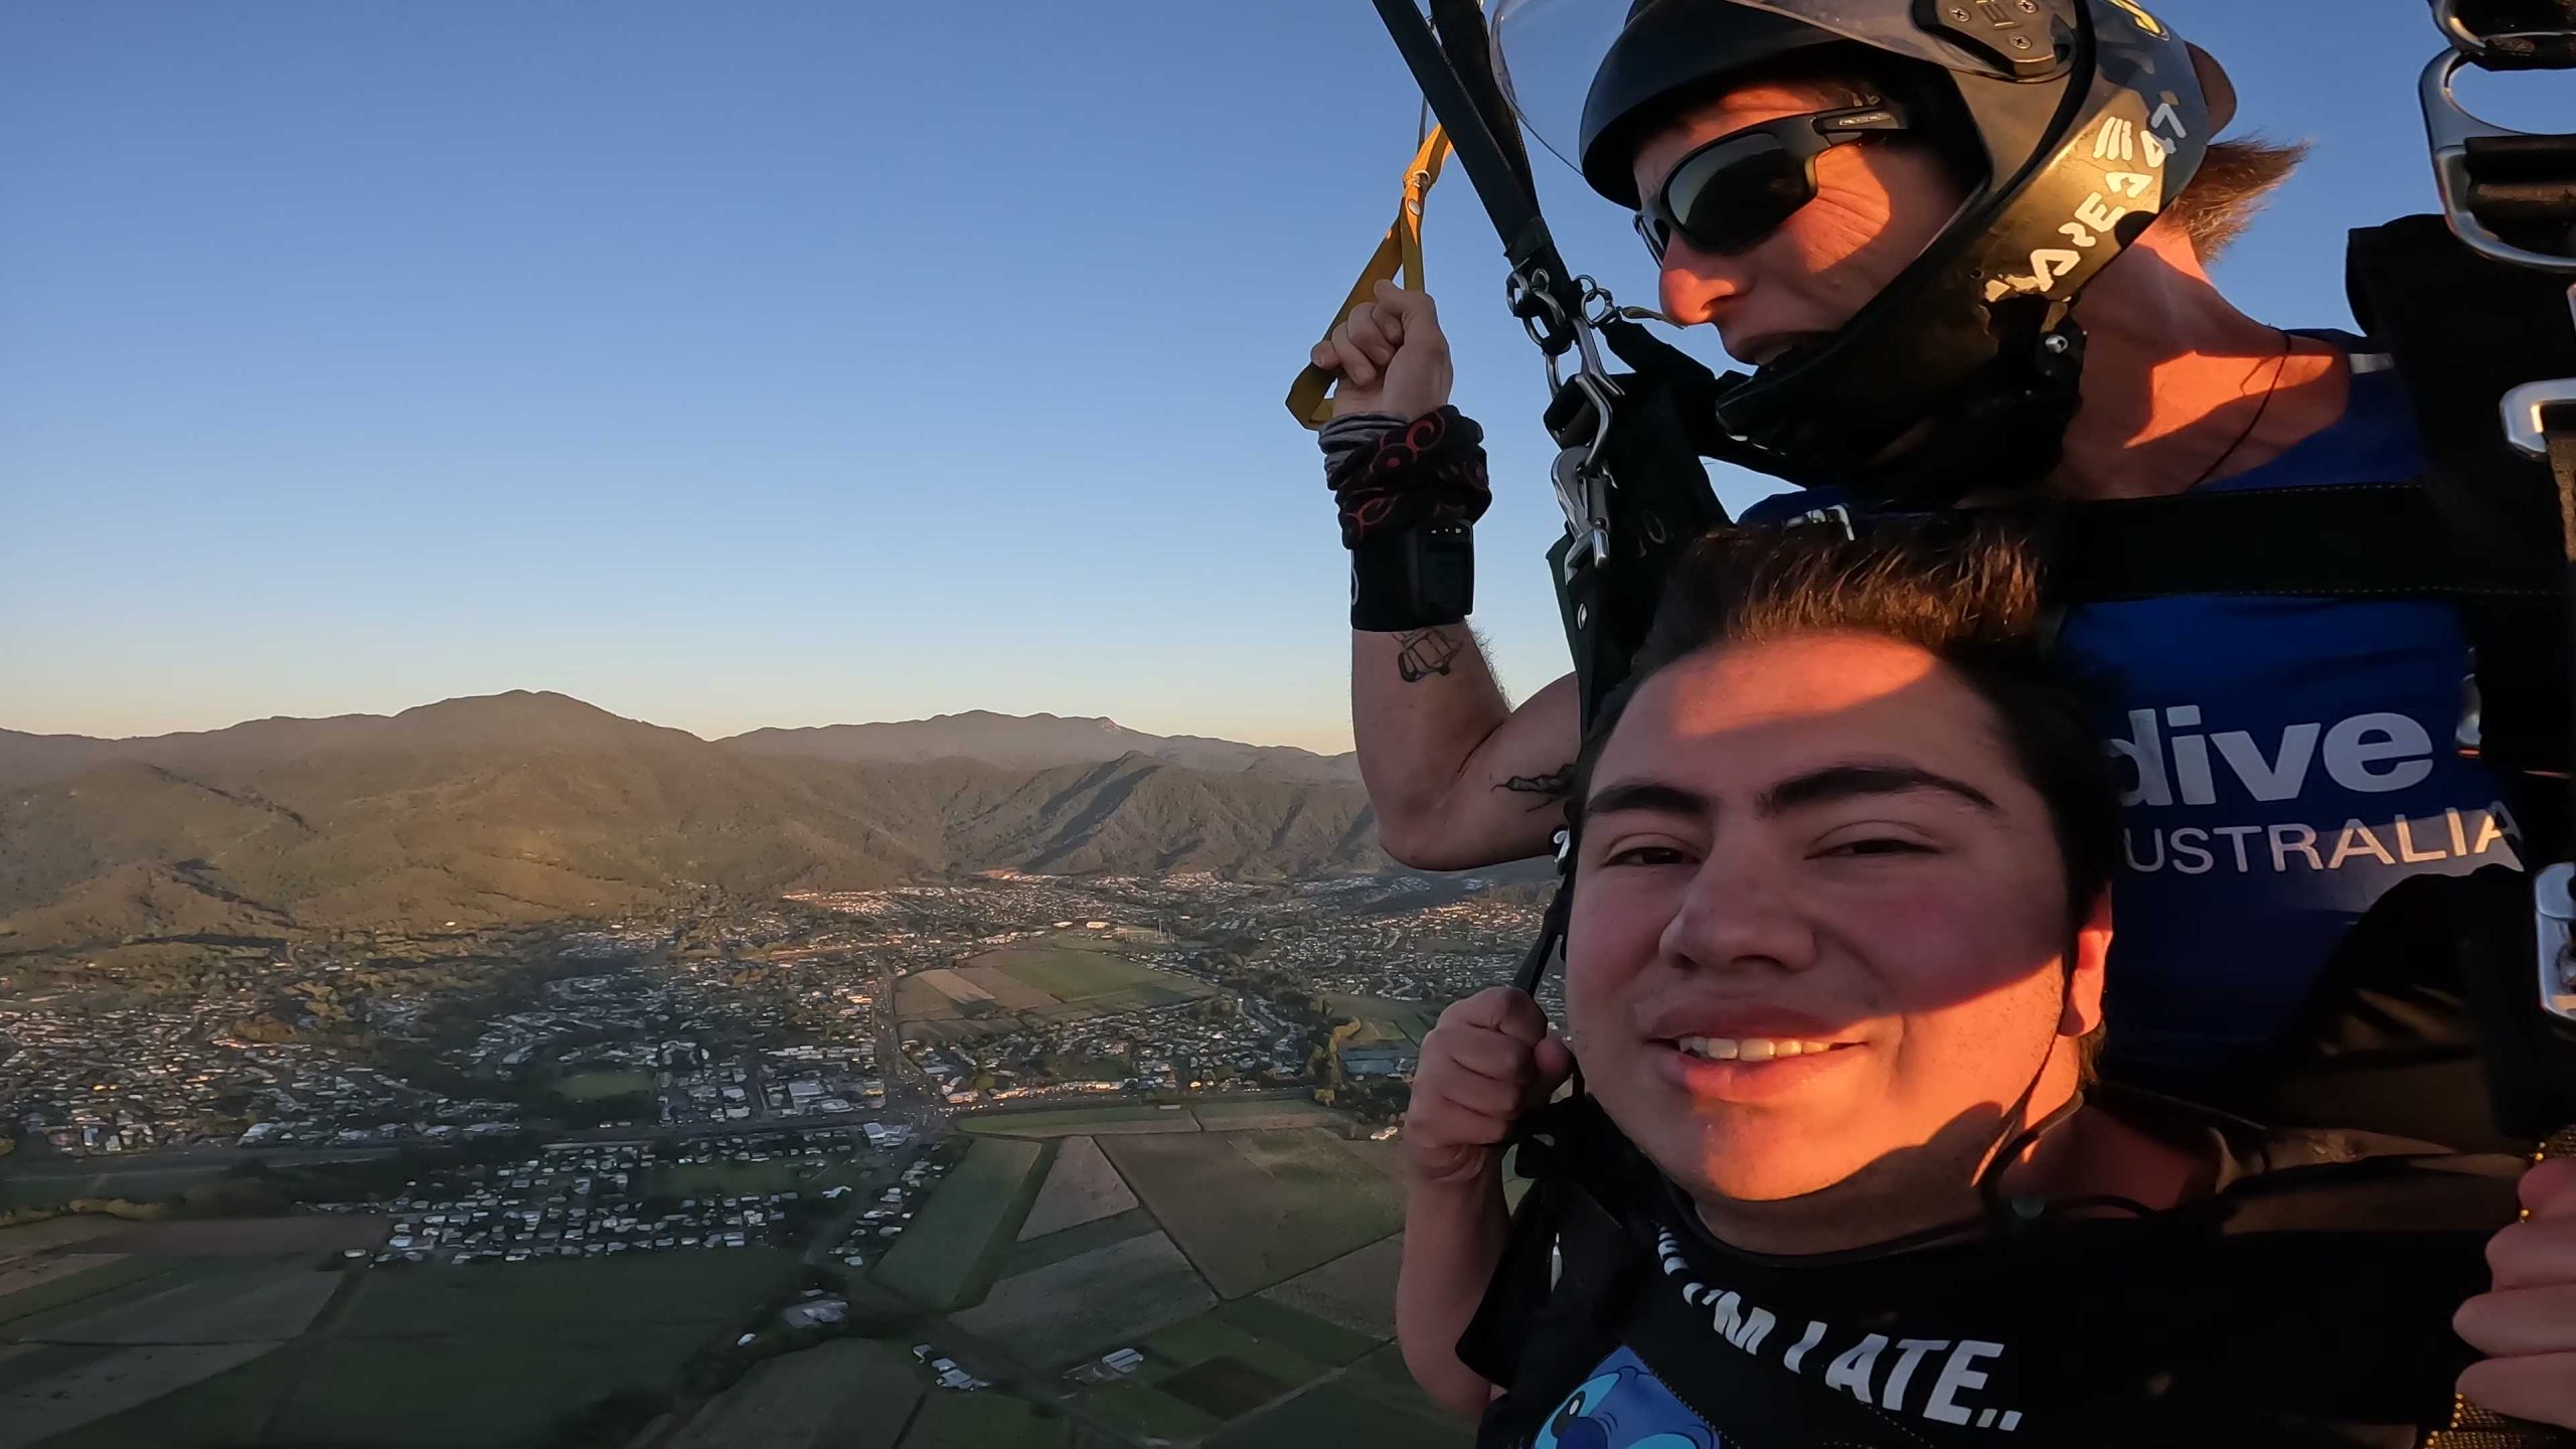
[[[1728,77],[1852,44],[1919,77],[1984,175],[1842,330],[1728,376],[1721,441],[1873,500],[2038,482],[2076,407],[2069,307],[2200,170],[2233,95],[2133,0],[1638,0],[1584,98],[1582,173],[1636,206],[1643,131]]]

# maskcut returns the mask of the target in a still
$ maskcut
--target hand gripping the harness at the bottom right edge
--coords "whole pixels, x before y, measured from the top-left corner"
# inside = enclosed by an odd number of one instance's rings
[[[2576,1160],[2524,1173],[2522,1207],[2530,1220],[2486,1245],[2496,1287],[2452,1318],[2486,1354],[2460,1374],[2460,1392],[2494,1413],[2576,1428]]]

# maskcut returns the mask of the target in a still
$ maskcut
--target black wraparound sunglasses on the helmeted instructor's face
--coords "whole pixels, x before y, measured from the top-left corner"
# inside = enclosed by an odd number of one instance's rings
[[[1685,155],[1664,186],[1646,196],[1636,211],[1636,235],[1646,237],[1656,266],[1674,232],[1703,253],[1741,253],[1816,199],[1816,157],[1906,126],[1899,106],[1873,101],[1728,131]]]

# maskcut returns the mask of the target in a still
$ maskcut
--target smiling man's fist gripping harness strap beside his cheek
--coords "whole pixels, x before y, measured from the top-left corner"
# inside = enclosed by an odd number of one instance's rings
[[[1528,993],[1479,990],[1440,1013],[1422,1039],[1404,1155],[1414,1186],[1473,1183],[1502,1152],[1512,1122],[1543,1106],[1574,1070]]]

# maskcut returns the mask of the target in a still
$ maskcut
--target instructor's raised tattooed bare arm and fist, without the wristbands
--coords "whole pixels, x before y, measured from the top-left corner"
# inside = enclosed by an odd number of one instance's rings
[[[1334,415],[1419,418],[1448,405],[1450,351],[1432,299],[1378,284],[1316,343],[1340,374]],[[1574,678],[1520,709],[1466,624],[1350,634],[1350,730],[1386,853],[1414,869],[1463,871],[1548,853],[1566,822],[1574,768]]]

